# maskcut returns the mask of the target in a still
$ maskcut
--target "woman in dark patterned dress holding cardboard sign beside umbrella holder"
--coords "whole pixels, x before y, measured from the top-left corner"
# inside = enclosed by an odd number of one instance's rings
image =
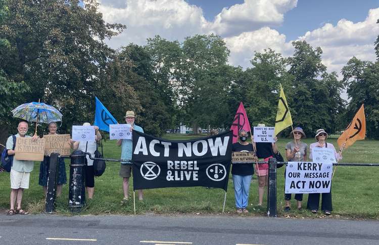
[[[51,122],[49,123],[48,130],[49,134],[57,134],[57,123]],[[39,165],[39,179],[38,184],[43,187],[43,192],[46,195],[46,191],[48,189],[48,176],[49,176],[49,166],[50,166],[50,157],[44,156],[43,161]],[[65,166],[65,159],[59,158],[58,159],[58,166],[57,166],[58,176],[57,176],[57,197],[59,197],[62,193],[62,186],[63,184],[67,183],[67,176],[66,176],[66,166]]]

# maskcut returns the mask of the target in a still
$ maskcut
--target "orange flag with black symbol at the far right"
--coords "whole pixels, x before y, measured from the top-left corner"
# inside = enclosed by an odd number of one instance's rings
[[[352,145],[355,140],[364,139],[366,135],[366,117],[364,116],[363,104],[353,118],[353,121],[347,126],[343,134],[338,138],[338,145],[341,147],[345,142],[345,149]]]

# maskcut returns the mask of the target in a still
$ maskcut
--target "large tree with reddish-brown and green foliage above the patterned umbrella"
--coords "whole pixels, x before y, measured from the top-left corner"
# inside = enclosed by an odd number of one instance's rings
[[[64,115],[63,130],[93,120],[93,97],[104,88],[102,76],[114,54],[104,40],[125,28],[105,23],[98,5],[14,0],[0,29],[11,46],[0,50],[0,67],[9,79],[29,86],[24,102],[41,99],[56,106]]]

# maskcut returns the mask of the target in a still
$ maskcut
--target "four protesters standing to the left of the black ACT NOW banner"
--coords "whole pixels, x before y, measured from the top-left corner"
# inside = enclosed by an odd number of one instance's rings
[[[139,132],[144,132],[144,130],[134,124],[135,114],[133,111],[127,111],[125,115],[125,122],[131,125],[130,130],[137,130]],[[84,123],[83,126],[90,126],[90,123]],[[80,150],[83,152],[88,152],[94,157],[94,152],[97,149],[98,141],[102,139],[102,135],[99,132],[99,127],[93,126],[95,129],[95,139],[96,142],[90,141],[73,141],[70,139],[70,145],[73,150]],[[49,134],[57,134],[57,123],[51,122],[48,125]],[[8,155],[15,155],[15,140],[17,137],[31,137],[26,135],[28,132],[28,123],[22,121],[18,124],[17,127],[18,133],[16,135],[12,135],[8,138],[6,148],[8,151]],[[37,135],[31,137],[33,141],[38,139]],[[124,198],[122,203],[128,201],[129,198],[129,177],[131,175],[131,154],[132,154],[132,141],[130,139],[120,139],[117,141],[117,145],[121,146],[121,159],[125,160],[125,162],[121,162],[120,167],[120,177],[123,178],[123,190],[124,190]],[[44,194],[46,194],[47,186],[48,186],[48,176],[49,176],[49,166],[50,166],[50,157],[44,156],[43,161],[40,164],[39,168],[39,180],[38,184],[42,186]],[[24,189],[29,188],[29,178],[30,172],[33,170],[34,162],[26,161],[26,160],[17,160],[13,159],[13,164],[10,173],[11,179],[11,197],[10,197],[10,210],[7,215],[28,214],[27,211],[23,210],[21,207],[22,204],[22,196]],[[63,184],[67,183],[66,176],[66,167],[65,161],[63,158],[59,158],[58,166],[57,166],[57,196],[62,193]],[[94,171],[93,171],[93,160],[86,156],[86,166],[85,166],[85,187],[88,194],[88,198],[93,198],[94,193]],[[143,192],[142,190],[138,190],[138,198],[139,200],[143,200]]]

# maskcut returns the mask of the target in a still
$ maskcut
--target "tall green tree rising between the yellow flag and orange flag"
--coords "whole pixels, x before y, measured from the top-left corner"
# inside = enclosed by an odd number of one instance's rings
[[[294,78],[291,106],[294,125],[300,125],[310,135],[317,128],[335,132],[339,128],[336,115],[344,110],[340,97],[343,83],[336,73],[326,72],[320,47],[313,48],[305,41],[294,41],[293,45],[295,52],[289,58],[289,73]]]

